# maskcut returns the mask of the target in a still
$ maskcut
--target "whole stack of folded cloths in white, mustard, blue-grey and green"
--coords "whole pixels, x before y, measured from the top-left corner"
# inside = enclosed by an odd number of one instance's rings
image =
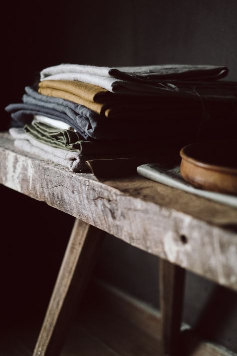
[[[15,145],[85,171],[88,159],[158,157],[159,147],[236,134],[237,83],[226,67],[62,64],[10,104]],[[163,152],[163,150],[162,150]]]

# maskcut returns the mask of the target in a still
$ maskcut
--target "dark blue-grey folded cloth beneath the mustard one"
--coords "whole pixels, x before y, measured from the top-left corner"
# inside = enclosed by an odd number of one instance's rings
[[[177,120],[175,115],[169,120],[109,120],[82,105],[68,100],[38,94],[32,88],[25,88],[23,103],[10,104],[5,110],[13,119],[11,126],[30,124],[34,115],[44,115],[60,120],[75,129],[85,140],[139,140],[166,139],[189,135],[195,137],[201,118],[193,113],[190,118]],[[190,125],[191,121],[191,125]],[[185,125],[186,124],[186,125]]]

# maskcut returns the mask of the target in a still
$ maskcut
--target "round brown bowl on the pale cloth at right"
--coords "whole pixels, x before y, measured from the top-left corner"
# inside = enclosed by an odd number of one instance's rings
[[[183,147],[180,173],[197,188],[237,194],[237,141],[206,141]]]

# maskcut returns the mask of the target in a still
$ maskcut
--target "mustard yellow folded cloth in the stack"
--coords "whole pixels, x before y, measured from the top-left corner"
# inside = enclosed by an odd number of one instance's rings
[[[39,83],[38,92],[42,95],[69,100],[105,116],[109,119],[157,120],[181,116],[183,102],[165,98],[137,97],[114,94],[93,84],[67,80],[44,80]],[[185,103],[185,112],[200,110],[199,102]]]

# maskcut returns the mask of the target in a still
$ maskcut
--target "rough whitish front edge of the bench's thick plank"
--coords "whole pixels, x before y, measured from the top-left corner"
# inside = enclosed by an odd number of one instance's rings
[[[3,185],[237,290],[235,232],[125,194],[91,174],[73,174],[8,148],[0,147],[0,156]]]

